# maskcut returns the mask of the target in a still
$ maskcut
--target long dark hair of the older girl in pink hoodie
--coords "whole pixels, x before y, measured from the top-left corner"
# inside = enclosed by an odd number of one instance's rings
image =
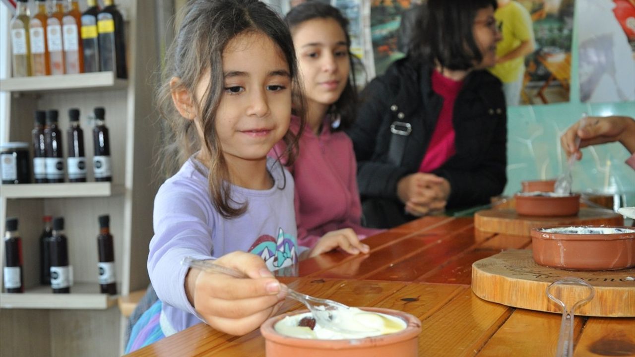
[[[346,48],[349,52],[349,64],[351,70],[349,72],[349,80],[344,87],[344,91],[340,95],[340,98],[331,105],[328,110],[328,114],[331,114],[334,118],[339,117],[340,125],[337,128],[331,126],[331,131],[338,131],[350,128],[353,121],[357,116],[357,90],[355,83],[355,55],[351,53],[351,37],[349,36],[349,20],[342,15],[340,10],[334,8],[329,4],[324,4],[319,1],[307,1],[306,3],[299,4],[289,11],[284,17],[284,21],[291,29],[291,32],[295,30],[298,25],[312,20],[314,18],[332,18],[335,20],[344,31],[346,36]]]

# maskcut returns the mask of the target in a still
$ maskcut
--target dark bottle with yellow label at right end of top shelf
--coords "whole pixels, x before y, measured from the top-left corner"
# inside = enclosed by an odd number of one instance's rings
[[[115,71],[117,77],[127,78],[123,17],[112,0],[104,0],[104,4],[105,8],[97,15],[99,69]]]

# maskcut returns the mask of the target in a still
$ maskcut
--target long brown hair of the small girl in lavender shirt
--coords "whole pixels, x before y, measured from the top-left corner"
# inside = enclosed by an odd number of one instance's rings
[[[301,132],[305,122],[304,100],[291,33],[282,18],[258,0],[190,0],[179,15],[182,21],[175,40],[166,51],[163,85],[157,93],[161,115],[169,126],[165,133],[166,145],[159,156],[163,172],[166,176],[177,172],[204,145],[211,156],[208,181],[213,204],[223,217],[237,217],[246,211],[247,203],[237,203],[231,198],[229,168],[215,126],[224,88],[223,51],[231,39],[246,32],[262,33],[277,44],[289,65]],[[194,93],[201,77],[207,74],[210,76],[209,87],[201,102],[196,103],[198,115],[195,120],[200,121],[204,133],[201,143],[194,121],[180,116],[173,105],[171,90],[184,89]],[[178,79],[176,88],[170,86],[172,78]],[[289,130],[283,140],[287,147],[284,154],[293,162],[298,137]]]

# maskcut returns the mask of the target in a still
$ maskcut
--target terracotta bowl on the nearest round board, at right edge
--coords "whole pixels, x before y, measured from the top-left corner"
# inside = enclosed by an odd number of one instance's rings
[[[557,226],[531,229],[533,260],[570,270],[635,266],[635,227]]]

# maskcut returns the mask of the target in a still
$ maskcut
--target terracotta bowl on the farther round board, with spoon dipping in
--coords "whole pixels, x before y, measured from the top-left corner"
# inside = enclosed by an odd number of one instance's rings
[[[516,213],[527,216],[573,216],[580,210],[580,194],[570,196],[525,196],[522,193],[514,195],[516,199]]]

